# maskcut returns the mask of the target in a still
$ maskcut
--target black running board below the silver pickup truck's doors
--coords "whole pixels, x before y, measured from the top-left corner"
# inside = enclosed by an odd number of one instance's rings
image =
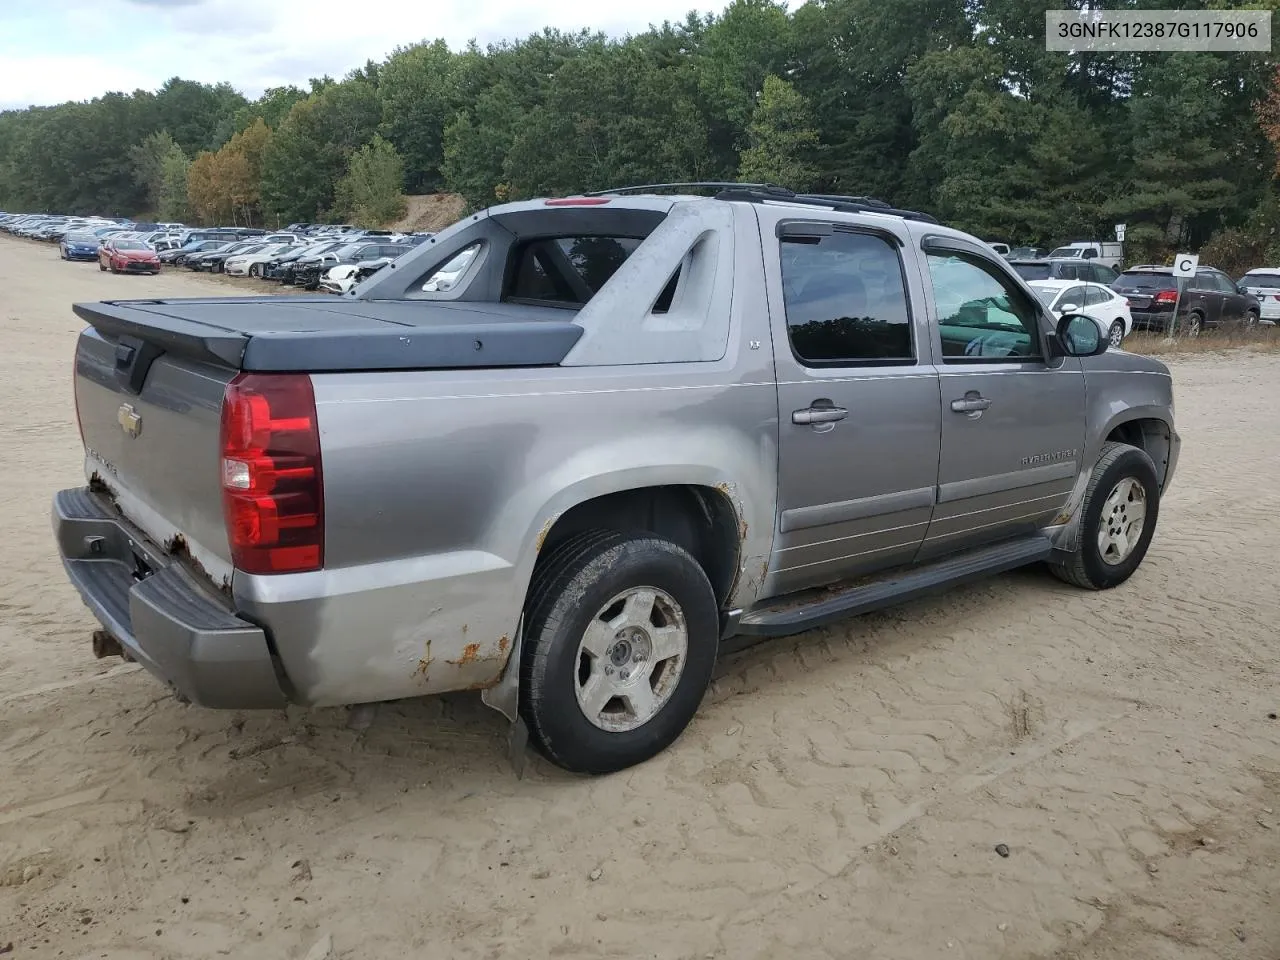
[[[733,636],[790,636],[805,630],[892,607],[919,596],[947,590],[960,584],[983,580],[993,573],[1047,561],[1052,543],[1036,535],[1006,540],[993,547],[961,553],[870,582],[861,581],[837,593],[812,590],[768,603],[741,617],[731,628]]]

